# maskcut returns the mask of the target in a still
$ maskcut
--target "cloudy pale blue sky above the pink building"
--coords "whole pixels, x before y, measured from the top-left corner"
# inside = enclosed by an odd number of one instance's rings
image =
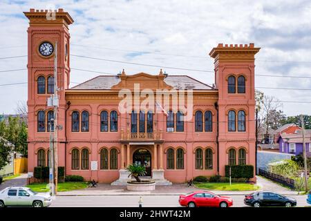
[[[75,20],[70,26],[70,52],[140,64],[213,70],[209,51],[218,43],[261,47],[256,74],[311,77],[310,1],[1,1],[0,57],[27,54],[30,8],[64,8]],[[0,59],[0,70],[26,68],[26,57]],[[160,68],[71,57],[71,68],[117,74],[158,74]],[[207,84],[214,74],[164,69]],[[72,70],[70,80],[99,75]],[[26,70],[0,73],[0,84],[27,81]],[[71,84],[74,86],[75,84]],[[256,77],[256,87],[282,101],[311,101],[311,79]],[[265,87],[265,88],[263,88]],[[306,88],[276,90],[268,88]],[[0,86],[0,113],[15,113],[26,101],[27,84]],[[311,115],[311,104],[284,103],[287,115]]]

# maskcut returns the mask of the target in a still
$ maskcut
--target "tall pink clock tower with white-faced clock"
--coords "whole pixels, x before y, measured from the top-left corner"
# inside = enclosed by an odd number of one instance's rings
[[[28,171],[37,166],[40,148],[48,153],[49,126],[52,108],[47,98],[54,93],[54,59],[57,46],[57,88],[59,88],[58,125],[64,127],[65,90],[70,80],[69,30],[73,19],[62,8],[59,10],[35,10],[24,12],[29,19],[28,27]],[[49,113],[50,112],[50,113]],[[64,166],[64,131],[58,130],[59,166]],[[48,156],[46,156],[48,159]],[[44,162],[47,166],[47,162]]]

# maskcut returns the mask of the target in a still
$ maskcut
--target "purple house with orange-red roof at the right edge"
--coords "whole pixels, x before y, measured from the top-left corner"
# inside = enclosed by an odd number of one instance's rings
[[[294,134],[281,133],[277,142],[280,153],[292,153],[294,155],[303,153],[303,138],[300,131]],[[307,155],[311,157],[311,133],[305,133],[305,149]]]

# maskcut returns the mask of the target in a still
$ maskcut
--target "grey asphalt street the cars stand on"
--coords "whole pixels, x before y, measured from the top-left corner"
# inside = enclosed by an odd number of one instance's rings
[[[234,207],[244,207],[243,195],[232,195]],[[297,200],[297,206],[310,206],[305,200],[306,195],[291,195]],[[145,207],[176,207],[178,195],[142,195]],[[138,207],[139,195],[84,195],[57,196],[51,207]],[[310,206],[311,207],[311,206]]]

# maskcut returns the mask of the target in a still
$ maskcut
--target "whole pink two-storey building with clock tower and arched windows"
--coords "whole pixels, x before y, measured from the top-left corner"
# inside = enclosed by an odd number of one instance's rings
[[[124,71],[101,75],[69,88],[70,34],[73,19],[59,9],[55,19],[46,11],[24,12],[28,28],[28,172],[48,166],[50,119],[46,100],[54,91],[54,52],[57,41],[59,90],[58,164],[66,175],[124,184],[126,166],[146,167],[158,184],[186,182],[198,175],[225,175],[225,165],[255,166],[254,44],[212,48],[215,85],[187,75]],[[104,71],[104,70],[103,70]],[[210,81],[210,80],[209,80]],[[133,102],[133,111],[120,111],[120,90],[134,96],[164,91],[162,97],[185,93],[185,109],[171,99],[141,108],[146,96]],[[147,89],[147,90],[146,90]],[[191,90],[191,98],[190,91]],[[190,103],[191,99],[191,103]],[[140,107],[140,109],[138,109]],[[136,108],[136,109],[135,109]],[[189,111],[192,109],[192,112]],[[255,173],[255,171],[254,171]]]

